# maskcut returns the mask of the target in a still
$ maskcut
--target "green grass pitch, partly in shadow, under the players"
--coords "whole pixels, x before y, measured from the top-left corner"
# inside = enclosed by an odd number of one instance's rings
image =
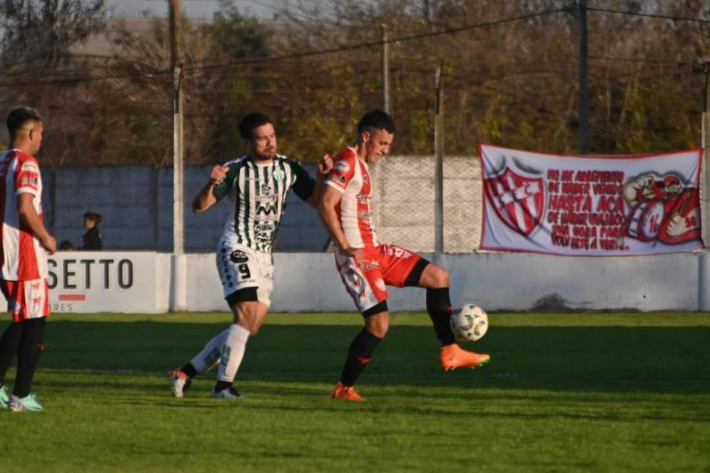
[[[359,315],[271,314],[247,399],[211,399],[213,373],[173,399],[166,370],[228,320],[53,315],[46,412],[0,412],[0,472],[710,472],[708,314],[492,314],[467,345],[490,364],[455,372],[426,315],[395,314],[365,403],[328,398]]]

